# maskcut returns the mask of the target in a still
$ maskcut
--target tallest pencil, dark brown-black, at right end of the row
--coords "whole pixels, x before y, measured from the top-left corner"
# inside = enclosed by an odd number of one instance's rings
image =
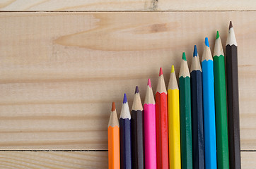
[[[241,168],[240,163],[240,127],[238,96],[238,44],[235,39],[232,22],[229,25],[226,42],[226,71],[228,93],[228,141],[230,168]]]

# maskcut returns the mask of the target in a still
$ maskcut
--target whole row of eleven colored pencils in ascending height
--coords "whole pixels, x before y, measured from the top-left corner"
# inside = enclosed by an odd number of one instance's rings
[[[172,65],[166,90],[160,68],[156,101],[149,79],[144,105],[136,86],[131,113],[124,94],[120,120],[113,102],[108,124],[109,168],[239,169],[237,57],[235,33],[230,23],[227,73],[217,32],[214,57],[205,38],[202,67],[197,46],[194,46],[190,70],[186,55],[182,54],[179,85]]]

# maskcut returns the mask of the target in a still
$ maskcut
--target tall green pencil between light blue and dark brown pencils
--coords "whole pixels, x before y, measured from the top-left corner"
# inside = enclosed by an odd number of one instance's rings
[[[214,46],[214,92],[216,113],[217,166],[229,168],[228,157],[228,115],[226,105],[225,58],[219,31]]]

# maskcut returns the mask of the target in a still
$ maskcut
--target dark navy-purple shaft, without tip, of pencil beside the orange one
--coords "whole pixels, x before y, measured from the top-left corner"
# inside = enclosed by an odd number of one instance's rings
[[[131,120],[120,118],[120,156],[121,169],[132,168],[132,136]]]

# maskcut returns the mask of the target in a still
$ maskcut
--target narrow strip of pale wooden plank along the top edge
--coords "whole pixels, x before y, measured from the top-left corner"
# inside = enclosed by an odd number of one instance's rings
[[[245,11],[256,1],[232,0],[2,0],[1,11]]]

